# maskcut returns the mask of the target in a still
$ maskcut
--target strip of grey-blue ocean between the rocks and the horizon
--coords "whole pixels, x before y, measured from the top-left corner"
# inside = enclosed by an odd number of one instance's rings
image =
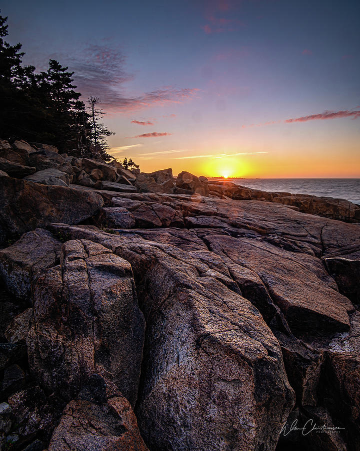
[[[346,199],[360,204],[360,178],[230,178],[229,181],[262,191],[285,191]]]

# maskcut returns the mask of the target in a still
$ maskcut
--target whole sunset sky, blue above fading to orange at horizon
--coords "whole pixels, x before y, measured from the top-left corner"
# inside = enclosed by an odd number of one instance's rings
[[[11,44],[74,71],[143,172],[360,177],[358,0],[2,0]]]

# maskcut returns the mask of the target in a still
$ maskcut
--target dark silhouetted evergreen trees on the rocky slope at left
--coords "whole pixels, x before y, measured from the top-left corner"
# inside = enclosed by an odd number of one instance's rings
[[[106,137],[114,133],[100,121],[99,98],[90,96],[86,107],[72,84],[74,73],[56,60],[49,60],[46,72],[22,64],[21,44],[11,46],[4,39],[6,21],[0,16],[0,137],[109,161]]]

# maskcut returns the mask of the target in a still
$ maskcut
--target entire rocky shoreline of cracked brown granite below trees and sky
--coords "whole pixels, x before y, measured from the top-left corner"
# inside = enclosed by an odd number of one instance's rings
[[[1,449],[360,448],[360,206],[24,141],[0,170]]]

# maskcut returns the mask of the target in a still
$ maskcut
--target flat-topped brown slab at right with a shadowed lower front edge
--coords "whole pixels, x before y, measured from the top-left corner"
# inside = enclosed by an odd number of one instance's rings
[[[249,238],[211,235],[206,241],[224,261],[236,264],[237,270],[244,267],[259,277],[259,284],[281,309],[295,335],[318,328],[323,331],[349,330],[348,313],[353,306],[338,293],[336,284],[318,259],[308,255],[300,257],[297,253]],[[233,277],[237,279],[235,272]],[[288,280],[291,280],[290,287]],[[250,295],[248,298],[251,299]],[[260,310],[262,307],[258,306]]]

